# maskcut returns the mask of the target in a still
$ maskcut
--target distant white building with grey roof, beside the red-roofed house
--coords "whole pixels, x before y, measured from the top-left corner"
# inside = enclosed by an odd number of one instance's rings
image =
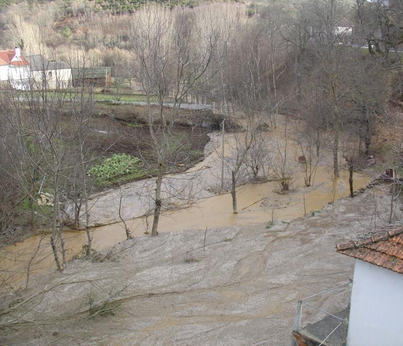
[[[49,61],[42,55],[27,56],[33,89],[65,89],[72,81],[72,69],[64,61]]]

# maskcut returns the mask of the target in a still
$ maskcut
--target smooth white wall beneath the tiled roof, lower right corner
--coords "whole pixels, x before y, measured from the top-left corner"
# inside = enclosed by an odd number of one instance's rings
[[[403,346],[403,274],[355,260],[347,346]]]

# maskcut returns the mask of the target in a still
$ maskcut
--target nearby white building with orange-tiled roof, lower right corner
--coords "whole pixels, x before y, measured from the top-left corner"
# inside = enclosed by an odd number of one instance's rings
[[[356,258],[347,346],[402,346],[403,227],[337,251]]]

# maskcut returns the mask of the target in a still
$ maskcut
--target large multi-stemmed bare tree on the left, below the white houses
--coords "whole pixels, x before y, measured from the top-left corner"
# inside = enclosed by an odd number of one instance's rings
[[[66,248],[63,228],[70,218],[71,205],[76,206],[75,223],[84,203],[88,236],[88,198],[92,184],[87,178],[91,162],[91,148],[87,145],[88,123],[92,114],[92,98],[88,92],[63,88],[50,90],[43,60],[43,80],[32,79],[31,88],[23,92],[11,90],[3,98],[2,112],[7,124],[7,136],[15,138],[15,145],[2,136],[2,144],[20,182],[21,192],[32,202],[45,228],[51,229],[50,243],[56,266],[63,270]],[[71,99],[66,102],[66,99]],[[23,163],[23,164],[21,164]],[[31,174],[32,172],[32,174]],[[27,182],[27,173],[31,179]],[[75,196],[75,198],[72,197]]]

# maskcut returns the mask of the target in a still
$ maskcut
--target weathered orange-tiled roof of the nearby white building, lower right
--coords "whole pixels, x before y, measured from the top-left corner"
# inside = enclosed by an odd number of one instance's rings
[[[337,252],[403,274],[403,227],[336,246]]]

